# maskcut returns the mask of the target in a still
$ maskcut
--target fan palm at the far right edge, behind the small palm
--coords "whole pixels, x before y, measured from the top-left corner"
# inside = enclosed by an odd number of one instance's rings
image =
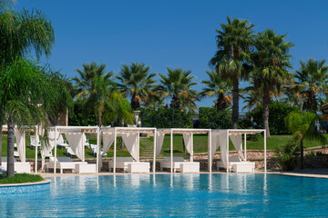
[[[297,86],[305,96],[303,110],[316,113],[318,102],[316,97],[323,94],[328,84],[328,65],[325,60],[317,61],[309,58],[307,63],[301,61],[301,69],[294,74]]]

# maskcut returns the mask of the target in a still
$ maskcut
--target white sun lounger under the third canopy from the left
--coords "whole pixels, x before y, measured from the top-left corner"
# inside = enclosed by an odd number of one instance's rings
[[[164,157],[164,161],[160,162],[160,171],[164,168],[171,168],[170,157]],[[186,162],[183,157],[173,157],[173,172],[176,173],[177,170],[181,173],[200,173],[200,163]]]

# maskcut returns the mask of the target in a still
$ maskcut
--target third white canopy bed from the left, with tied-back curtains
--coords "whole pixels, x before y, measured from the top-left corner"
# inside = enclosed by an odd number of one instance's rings
[[[170,173],[175,173],[177,170],[181,173],[199,173],[200,163],[193,162],[193,134],[208,134],[208,144],[211,146],[211,130],[210,129],[159,129],[156,134],[156,153],[154,154],[154,163],[156,156],[160,153],[164,142],[165,134],[170,134],[170,156],[165,157],[163,162],[160,162],[160,169],[168,168]],[[173,134],[182,134],[187,152],[190,154],[190,162],[185,162],[183,157],[173,157]]]

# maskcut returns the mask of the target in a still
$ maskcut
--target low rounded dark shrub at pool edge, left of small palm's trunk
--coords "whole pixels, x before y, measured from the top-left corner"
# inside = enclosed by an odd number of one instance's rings
[[[278,147],[275,150],[277,162],[281,165],[283,171],[292,171],[298,163],[298,153],[300,147],[294,141]]]

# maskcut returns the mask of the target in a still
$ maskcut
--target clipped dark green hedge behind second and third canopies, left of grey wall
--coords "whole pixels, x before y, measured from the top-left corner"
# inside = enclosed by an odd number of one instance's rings
[[[140,113],[142,126],[171,128],[172,108],[142,108]],[[192,128],[192,117],[190,113],[185,114],[179,110],[174,110],[174,128]]]

